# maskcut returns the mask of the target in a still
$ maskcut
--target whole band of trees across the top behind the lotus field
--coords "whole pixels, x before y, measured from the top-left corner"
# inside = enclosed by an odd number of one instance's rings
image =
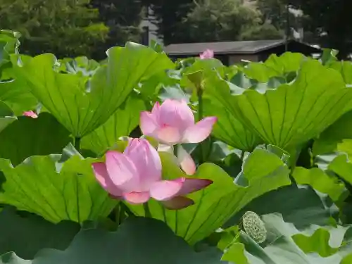
[[[142,40],[148,7],[165,44],[281,39],[303,27],[303,40],[339,49],[341,58],[351,51],[347,0],[1,0],[0,25],[23,35],[25,54],[101,60],[110,46]]]

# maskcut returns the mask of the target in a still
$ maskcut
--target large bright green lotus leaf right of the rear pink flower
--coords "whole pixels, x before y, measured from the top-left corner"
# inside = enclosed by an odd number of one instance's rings
[[[265,143],[282,149],[320,134],[345,113],[341,106],[352,99],[352,89],[345,86],[341,75],[314,60],[302,63],[294,82],[265,94],[255,90],[235,94],[230,87],[216,88],[234,117]]]

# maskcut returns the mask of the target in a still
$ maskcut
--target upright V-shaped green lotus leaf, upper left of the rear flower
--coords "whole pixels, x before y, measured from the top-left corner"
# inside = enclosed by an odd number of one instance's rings
[[[13,56],[13,65],[45,108],[81,138],[103,125],[141,80],[173,67],[165,54],[132,42],[107,54],[107,64],[92,77],[58,73],[60,65],[53,54],[21,57],[22,63]]]

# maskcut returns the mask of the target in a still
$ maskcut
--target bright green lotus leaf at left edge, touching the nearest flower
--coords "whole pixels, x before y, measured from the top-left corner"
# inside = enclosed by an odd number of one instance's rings
[[[62,155],[32,156],[13,167],[0,160],[6,182],[0,203],[36,213],[51,222],[98,220],[117,204],[96,181],[92,159],[83,159],[75,150]]]

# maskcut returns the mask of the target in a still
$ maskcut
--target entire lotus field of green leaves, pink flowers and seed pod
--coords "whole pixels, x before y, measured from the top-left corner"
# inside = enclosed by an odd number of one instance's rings
[[[1,263],[352,263],[352,63],[132,42],[97,63],[17,37],[0,35]]]

